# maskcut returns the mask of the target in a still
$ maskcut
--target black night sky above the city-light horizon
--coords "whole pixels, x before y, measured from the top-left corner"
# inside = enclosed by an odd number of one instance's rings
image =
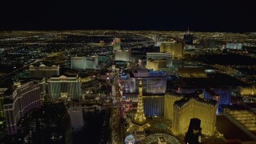
[[[87,2],[88,1],[88,2]],[[252,0],[1,0],[0,30],[256,31]]]

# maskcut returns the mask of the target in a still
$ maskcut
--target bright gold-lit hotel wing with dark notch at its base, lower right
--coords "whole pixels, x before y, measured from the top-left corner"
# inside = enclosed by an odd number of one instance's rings
[[[216,122],[217,102],[199,98],[198,94],[186,94],[181,100],[174,102],[172,133],[186,134],[190,118],[201,120],[202,134],[213,136]]]

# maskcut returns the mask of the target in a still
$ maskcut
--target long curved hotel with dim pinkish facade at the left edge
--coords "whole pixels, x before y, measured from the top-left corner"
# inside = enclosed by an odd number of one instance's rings
[[[25,114],[40,107],[39,84],[26,82],[14,89],[6,90],[3,102],[8,134],[17,133],[17,123]]]

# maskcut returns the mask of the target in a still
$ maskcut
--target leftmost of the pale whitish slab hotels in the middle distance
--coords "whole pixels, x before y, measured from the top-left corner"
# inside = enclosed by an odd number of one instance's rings
[[[71,69],[98,69],[98,55],[91,57],[71,57]]]

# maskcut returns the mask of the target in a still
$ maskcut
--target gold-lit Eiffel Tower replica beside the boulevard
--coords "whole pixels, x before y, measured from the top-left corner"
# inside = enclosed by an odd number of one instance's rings
[[[135,114],[135,118],[130,122],[130,126],[127,131],[130,130],[145,130],[149,127],[150,124],[146,120],[144,109],[143,109],[143,101],[142,101],[142,81],[138,84],[138,108],[137,113]]]

